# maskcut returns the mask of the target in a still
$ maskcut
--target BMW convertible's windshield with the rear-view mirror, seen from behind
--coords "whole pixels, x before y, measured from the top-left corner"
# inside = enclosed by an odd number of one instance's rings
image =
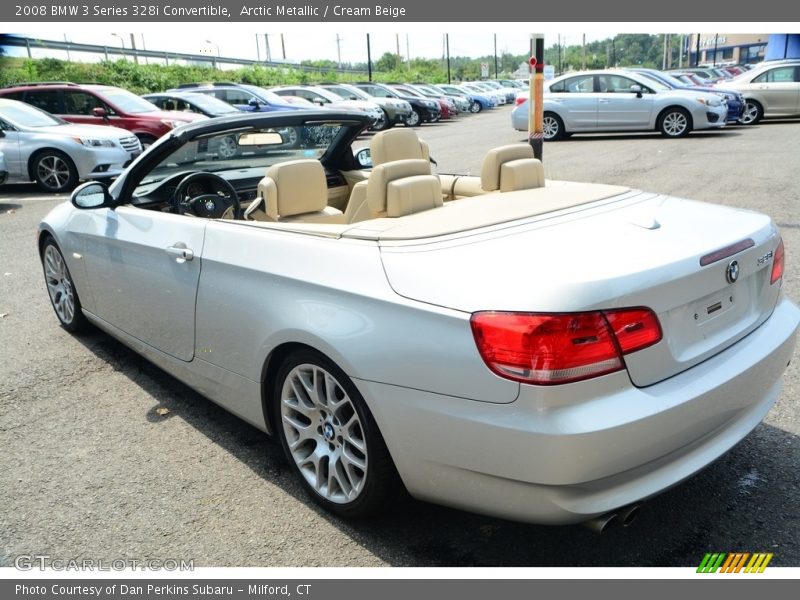
[[[144,196],[152,191],[154,184],[179,173],[252,169],[254,173],[263,175],[275,163],[319,160],[346,131],[347,127],[342,123],[313,123],[277,129],[225,131],[188,140],[145,176],[133,196],[134,199]]]

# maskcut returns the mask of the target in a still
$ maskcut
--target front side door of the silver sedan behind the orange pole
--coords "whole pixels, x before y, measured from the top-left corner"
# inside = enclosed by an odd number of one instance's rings
[[[638,81],[616,74],[598,75],[597,127],[605,130],[646,129],[655,94]],[[642,93],[631,91],[632,86]]]

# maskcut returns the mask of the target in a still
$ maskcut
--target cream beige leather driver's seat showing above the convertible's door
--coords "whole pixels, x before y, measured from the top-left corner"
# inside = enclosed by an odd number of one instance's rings
[[[317,160],[272,165],[258,183],[258,196],[245,210],[255,221],[344,223],[344,213],[328,206],[325,169]]]

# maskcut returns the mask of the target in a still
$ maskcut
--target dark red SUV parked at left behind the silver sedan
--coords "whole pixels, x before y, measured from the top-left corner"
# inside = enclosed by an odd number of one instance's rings
[[[174,127],[206,118],[193,113],[159,110],[136,94],[110,85],[26,83],[3,88],[0,97],[21,100],[69,123],[127,129],[139,138],[143,147]]]

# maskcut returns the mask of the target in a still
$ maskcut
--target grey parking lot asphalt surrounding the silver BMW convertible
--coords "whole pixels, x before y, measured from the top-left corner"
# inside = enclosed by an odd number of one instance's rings
[[[525,139],[509,112],[418,133],[440,172],[479,174],[489,148]],[[800,121],[685,139],[574,136],[546,143],[544,164],[549,178],[769,213],[786,245],[784,289],[800,301]],[[48,554],[195,566],[656,567],[696,566],[715,551],[773,552],[772,565],[800,566],[797,353],[765,422],[650,500],[631,527],[598,535],[411,499],[347,522],[306,500],[280,447],[261,432],[107,335],[58,326],[35,230],[64,200],[33,186],[0,187],[0,566]]]

